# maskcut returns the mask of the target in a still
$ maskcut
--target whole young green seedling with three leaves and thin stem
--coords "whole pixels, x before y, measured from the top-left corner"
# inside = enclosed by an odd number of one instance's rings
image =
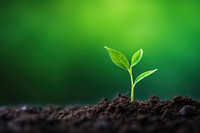
[[[128,71],[130,78],[131,78],[131,101],[134,101],[134,89],[135,89],[135,85],[141,81],[142,79],[144,79],[145,77],[151,75],[152,73],[154,73],[155,71],[157,71],[157,69],[154,70],[150,70],[150,71],[146,71],[142,74],[140,74],[135,80],[133,79],[133,73],[132,73],[132,68],[133,66],[135,66],[137,63],[140,62],[140,60],[142,59],[143,56],[143,50],[140,49],[137,52],[135,52],[132,56],[131,59],[131,64],[129,64],[126,56],[124,56],[121,52],[108,48],[105,46],[105,48],[108,50],[109,54],[110,54],[110,58],[113,61],[114,64],[116,64],[117,66],[119,66],[122,69],[125,69]]]

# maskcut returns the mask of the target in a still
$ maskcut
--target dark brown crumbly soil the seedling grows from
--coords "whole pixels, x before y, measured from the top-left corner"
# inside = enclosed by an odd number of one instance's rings
[[[200,101],[180,95],[83,107],[1,107],[0,133],[200,133]]]

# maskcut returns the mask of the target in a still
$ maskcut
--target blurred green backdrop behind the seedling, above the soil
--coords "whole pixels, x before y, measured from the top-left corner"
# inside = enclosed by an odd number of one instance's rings
[[[158,68],[136,99],[200,98],[200,2],[93,0],[0,2],[0,104],[91,104],[130,95],[129,75],[103,46],[138,74]]]

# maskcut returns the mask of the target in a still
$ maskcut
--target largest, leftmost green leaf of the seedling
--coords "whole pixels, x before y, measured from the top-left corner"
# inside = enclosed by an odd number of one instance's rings
[[[108,50],[108,52],[110,54],[110,58],[114,64],[116,64],[117,66],[119,66],[125,70],[129,70],[128,60],[122,53],[120,53],[117,50],[108,48],[108,47],[105,47],[105,48]]]

